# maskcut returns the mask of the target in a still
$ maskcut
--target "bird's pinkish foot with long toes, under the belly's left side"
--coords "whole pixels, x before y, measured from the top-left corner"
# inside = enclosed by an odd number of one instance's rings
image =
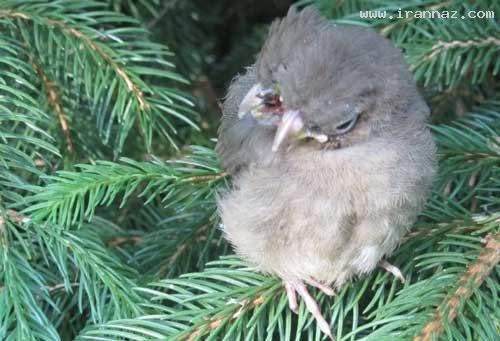
[[[335,292],[333,291],[332,288],[329,286],[320,283],[316,280],[309,280],[307,281],[310,285],[318,288],[322,292],[324,292],[326,295],[331,296],[334,295]],[[307,310],[312,314],[314,319],[316,320],[316,323],[318,324],[319,329],[326,335],[331,340],[335,340],[335,338],[332,335],[332,332],[330,331],[330,326],[328,322],[326,322],[325,318],[321,314],[321,311],[319,309],[318,303],[316,303],[316,300],[311,296],[309,291],[307,290],[306,285],[302,281],[285,281],[285,290],[288,296],[288,305],[290,309],[294,312],[297,313],[298,310],[298,304],[297,304],[297,293],[299,294],[300,297],[304,300],[304,303],[306,304]]]

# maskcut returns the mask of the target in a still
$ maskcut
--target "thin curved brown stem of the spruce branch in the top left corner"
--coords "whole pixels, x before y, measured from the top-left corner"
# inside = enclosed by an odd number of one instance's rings
[[[20,18],[24,20],[33,20],[33,18],[28,14],[20,11],[10,11],[10,10],[0,10],[0,18],[2,17],[11,17],[11,18]],[[53,26],[57,26],[63,30],[63,32],[70,34],[78,39],[84,41],[92,50],[96,51],[107,63],[111,65],[111,67],[115,70],[118,77],[120,77],[130,92],[134,94],[137,101],[139,102],[139,108],[142,111],[147,111],[149,109],[148,103],[144,97],[142,91],[137,87],[137,85],[130,79],[129,75],[125,72],[123,67],[118,64],[112,56],[110,56],[99,44],[94,42],[94,40],[85,35],[83,32],[77,30],[74,27],[68,27],[65,22],[44,18],[45,21]]]

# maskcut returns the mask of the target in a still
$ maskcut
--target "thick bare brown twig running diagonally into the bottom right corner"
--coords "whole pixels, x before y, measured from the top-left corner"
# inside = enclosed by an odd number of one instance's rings
[[[413,340],[431,341],[436,339],[444,329],[443,320],[451,323],[455,319],[462,302],[474,293],[474,288],[481,286],[499,261],[500,233],[488,235],[485,238],[485,246],[476,262],[470,264],[465,275],[458,279],[458,288],[451,296],[441,302],[434,313],[434,318],[427,322],[420,335]]]

